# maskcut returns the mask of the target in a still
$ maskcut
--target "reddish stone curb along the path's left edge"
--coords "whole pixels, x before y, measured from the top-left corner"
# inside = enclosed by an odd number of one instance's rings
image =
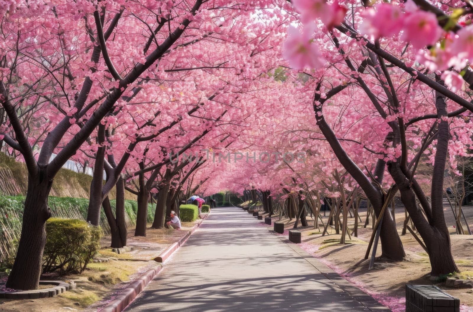
[[[191,236],[191,234],[202,224],[202,222],[207,219],[207,216],[210,212],[203,218],[201,221],[193,226],[193,228],[181,237],[178,241],[175,241],[171,246],[166,248],[163,252],[159,254],[154,260],[157,262],[166,261],[169,256],[173,254],[184,242]],[[160,260],[160,261],[159,261]],[[136,296],[149,284],[151,280],[163,269],[163,265],[158,263],[156,267],[150,268],[148,271],[143,273],[140,277],[135,279],[130,285],[123,289],[117,296],[110,301],[103,309],[98,310],[100,312],[122,312],[125,308],[135,300]]]

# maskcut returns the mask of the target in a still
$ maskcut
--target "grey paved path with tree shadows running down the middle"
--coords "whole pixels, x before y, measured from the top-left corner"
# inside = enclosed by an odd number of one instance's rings
[[[390,311],[241,208],[215,208],[125,311]]]

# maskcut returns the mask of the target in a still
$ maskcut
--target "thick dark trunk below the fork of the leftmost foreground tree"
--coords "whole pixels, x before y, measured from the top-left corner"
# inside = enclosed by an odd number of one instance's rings
[[[17,257],[11,269],[6,286],[18,290],[37,289],[43,250],[46,243],[45,222],[51,217],[48,196],[53,180],[48,180],[47,172],[41,168],[37,177],[28,174],[28,191],[23,212],[23,227],[18,245]]]

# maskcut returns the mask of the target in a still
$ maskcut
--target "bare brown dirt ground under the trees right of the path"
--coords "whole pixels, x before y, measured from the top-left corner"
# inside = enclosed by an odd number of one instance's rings
[[[460,276],[471,279],[473,278],[473,236],[456,235],[455,228],[453,227],[455,220],[452,211],[449,206],[445,206],[445,209],[447,225],[451,232],[452,252],[455,262],[462,272]],[[464,212],[468,222],[473,224],[473,206],[465,206]],[[321,214],[323,216],[324,213],[322,212]],[[327,217],[328,214],[329,211],[326,212]],[[303,231],[300,246],[395,312],[405,311],[406,284],[437,285],[448,294],[460,299],[460,303],[463,305],[461,311],[473,311],[472,288],[446,287],[445,282],[431,281],[429,279],[429,257],[409,232],[401,236],[406,252],[404,261],[386,262],[377,260],[375,267],[372,270],[368,270],[369,259],[365,260],[364,257],[372,233],[372,220],[370,220],[368,227],[364,228],[366,209],[364,211],[360,210],[359,215],[363,222],[359,222],[361,224],[358,226],[358,237],[351,236],[351,239],[347,237],[347,244],[345,245],[340,244],[341,235],[335,234],[335,230],[330,226],[328,227],[328,234],[322,236],[321,232],[323,232],[324,228],[320,220],[320,230],[314,230],[314,221],[308,217],[308,226],[306,228],[299,228]],[[326,223],[327,217],[323,216],[324,223]],[[395,218],[398,232],[401,235],[405,218],[403,208],[396,208]],[[278,221],[279,217],[273,217],[272,220],[273,222]],[[286,223],[285,230],[292,229],[294,221],[294,219],[292,221],[289,219],[281,220],[281,222]],[[350,232],[352,232],[354,217],[349,218],[348,221]],[[262,226],[266,225],[262,223]],[[464,223],[463,226],[465,227]],[[267,227],[272,232],[272,226]],[[282,235],[287,236],[287,231]],[[377,256],[381,255],[380,250],[381,245],[379,244]]]

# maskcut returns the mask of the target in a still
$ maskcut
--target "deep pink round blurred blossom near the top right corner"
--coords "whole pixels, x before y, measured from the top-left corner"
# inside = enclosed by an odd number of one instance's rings
[[[416,11],[404,19],[403,40],[410,41],[414,48],[433,45],[442,35],[437,16],[426,11]]]

